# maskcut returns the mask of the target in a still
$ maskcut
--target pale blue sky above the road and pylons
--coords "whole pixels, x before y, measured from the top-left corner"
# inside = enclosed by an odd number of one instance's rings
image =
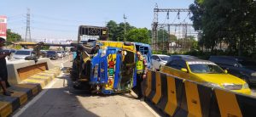
[[[8,17],[8,28],[26,34],[27,8],[31,14],[33,40],[77,40],[79,25],[105,26],[109,20],[151,29],[154,7],[189,8],[193,0],[0,0],[0,15]],[[159,14],[160,23],[191,23],[187,14]]]

